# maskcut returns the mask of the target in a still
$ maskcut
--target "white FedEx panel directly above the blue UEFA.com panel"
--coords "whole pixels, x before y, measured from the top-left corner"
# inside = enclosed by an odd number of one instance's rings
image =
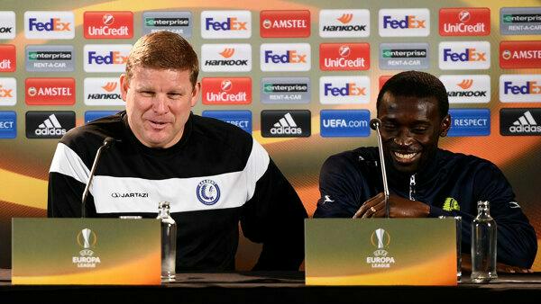
[[[322,104],[369,103],[368,76],[323,76],[319,78],[319,100]]]

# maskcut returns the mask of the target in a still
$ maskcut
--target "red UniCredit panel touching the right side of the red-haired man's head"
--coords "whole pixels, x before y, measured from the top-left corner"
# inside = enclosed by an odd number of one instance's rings
[[[252,79],[249,77],[205,77],[201,82],[203,104],[252,103]]]

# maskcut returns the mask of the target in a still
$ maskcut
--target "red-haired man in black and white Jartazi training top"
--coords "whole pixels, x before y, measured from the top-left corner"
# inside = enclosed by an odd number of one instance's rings
[[[191,112],[201,85],[197,54],[175,33],[134,45],[120,77],[126,111],[70,130],[50,165],[48,215],[80,217],[96,150],[88,217],[155,218],[169,201],[178,271],[232,271],[243,234],[262,243],[255,270],[298,270],[307,212],[267,151],[245,131]]]

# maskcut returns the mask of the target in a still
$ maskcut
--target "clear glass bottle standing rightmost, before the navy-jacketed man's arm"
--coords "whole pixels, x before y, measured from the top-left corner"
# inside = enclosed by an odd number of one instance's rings
[[[472,221],[472,282],[486,283],[497,279],[496,221],[491,217],[488,201],[477,202],[477,217]]]

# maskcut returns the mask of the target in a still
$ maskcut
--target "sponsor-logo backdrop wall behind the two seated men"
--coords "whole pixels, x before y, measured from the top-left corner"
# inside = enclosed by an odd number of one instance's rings
[[[46,214],[58,138],[124,109],[126,56],[160,30],[200,56],[194,112],[251,132],[310,214],[326,157],[376,145],[368,121],[386,79],[406,69],[441,77],[453,116],[442,147],[499,165],[541,236],[541,1],[4,0],[0,267],[11,264],[11,219]],[[243,240],[238,268],[259,248]]]

